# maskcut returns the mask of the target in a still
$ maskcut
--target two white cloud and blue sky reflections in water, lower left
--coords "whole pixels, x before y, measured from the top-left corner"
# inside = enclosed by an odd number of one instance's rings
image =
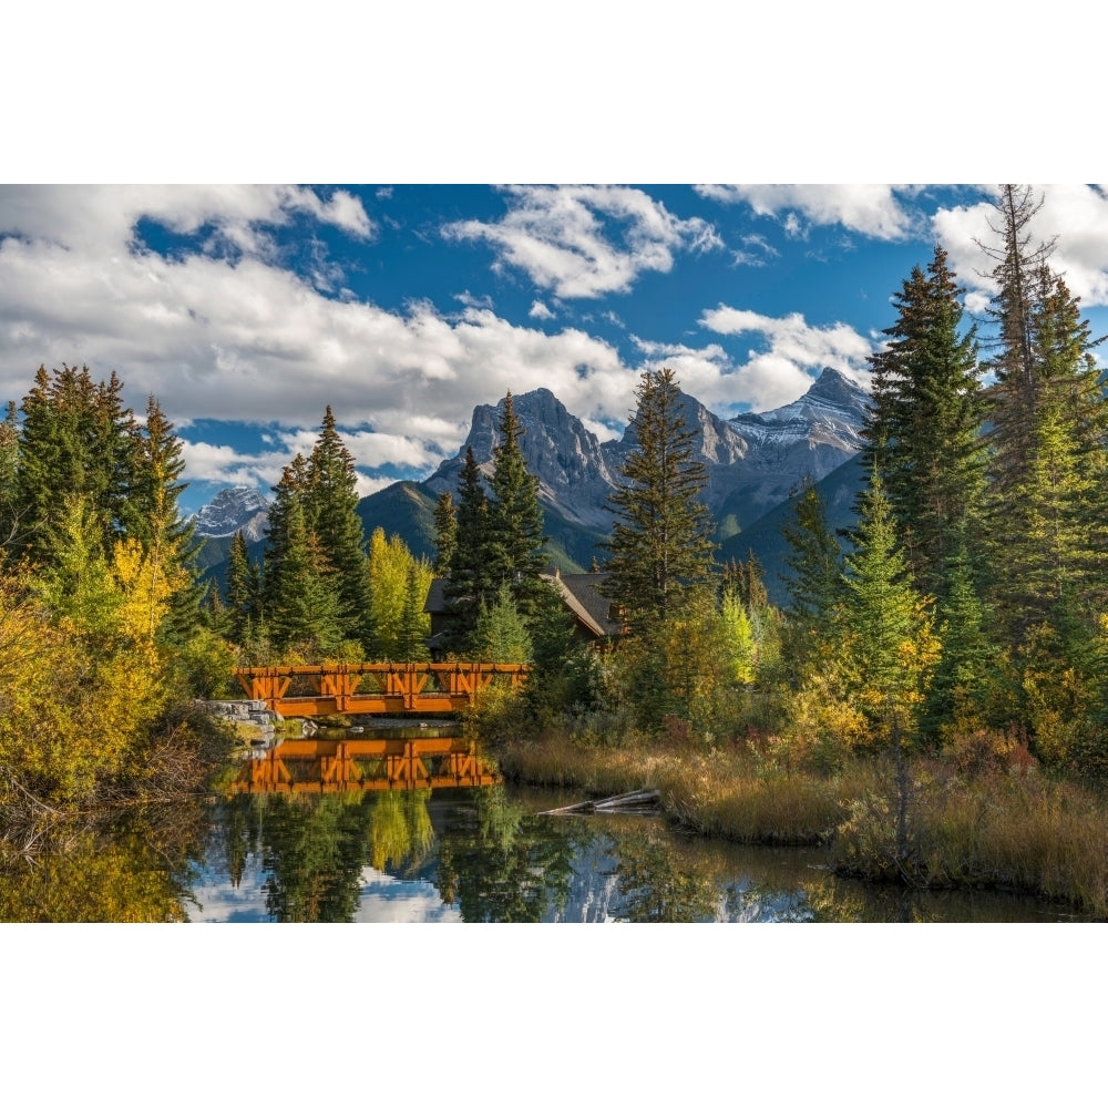
[[[233,885],[226,874],[202,869],[186,903],[192,923],[267,923],[267,873],[252,859],[243,879]],[[460,923],[456,905],[443,904],[429,881],[404,881],[372,866],[361,871],[356,923]],[[199,906],[197,906],[197,904]]]

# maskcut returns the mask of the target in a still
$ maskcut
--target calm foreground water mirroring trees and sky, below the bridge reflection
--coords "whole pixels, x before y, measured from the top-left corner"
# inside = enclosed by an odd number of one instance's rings
[[[503,786],[220,796],[0,869],[0,920],[605,923],[1071,919],[1030,897],[907,893],[820,851],[689,838],[648,815],[544,815]]]

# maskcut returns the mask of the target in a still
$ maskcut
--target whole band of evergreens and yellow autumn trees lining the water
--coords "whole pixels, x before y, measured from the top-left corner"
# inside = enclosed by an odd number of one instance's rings
[[[858,525],[834,533],[818,490],[796,491],[784,606],[752,556],[716,562],[678,382],[642,376],[597,565],[626,633],[601,649],[545,578],[511,394],[491,478],[470,454],[439,500],[433,565],[363,534],[328,408],[274,489],[264,556],[236,536],[220,591],[195,566],[157,401],[140,419],[114,375],[41,368],[0,424],[0,788],[62,804],[148,786],[198,733],[185,706],[227,694],[236,664],[427,658],[434,576],[439,649],[535,664],[479,718],[490,735],[727,742],[812,773],[892,755],[902,807],[923,753],[1102,777],[1108,408],[1036,211],[1002,189],[986,319],[942,248],[904,279],[870,358]]]

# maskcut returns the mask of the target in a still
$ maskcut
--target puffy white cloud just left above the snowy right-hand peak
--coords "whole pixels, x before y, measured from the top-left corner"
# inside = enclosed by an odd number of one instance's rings
[[[799,312],[772,317],[720,305],[700,316],[700,326],[717,335],[760,337],[766,348],[749,349],[746,362],[728,375],[736,400],[755,411],[791,403],[827,366],[868,384],[865,358],[873,345],[845,324],[813,327]]]

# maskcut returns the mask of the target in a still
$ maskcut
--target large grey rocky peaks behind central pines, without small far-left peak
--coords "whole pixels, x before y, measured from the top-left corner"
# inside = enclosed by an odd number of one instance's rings
[[[612,524],[607,500],[619,481],[619,466],[636,445],[634,430],[601,443],[547,389],[514,397],[513,403],[540,499],[573,523],[606,531]],[[726,535],[788,499],[806,475],[819,481],[852,458],[861,448],[869,396],[829,368],[800,400],[771,412],[724,420],[693,397],[683,393],[680,403],[696,456],[707,469],[705,501]],[[469,448],[491,474],[502,413],[503,401],[475,408],[458,456],[444,462],[423,488],[435,495],[456,492]]]

